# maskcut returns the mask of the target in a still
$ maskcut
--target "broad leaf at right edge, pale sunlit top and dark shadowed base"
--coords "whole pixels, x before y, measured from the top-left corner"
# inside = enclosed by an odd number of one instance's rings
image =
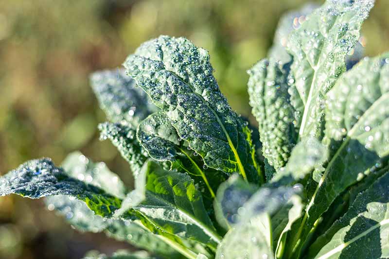
[[[324,141],[331,154],[324,172],[314,172],[318,185],[301,221],[302,240],[340,193],[385,165],[388,86],[389,53],[365,58],[328,93]]]

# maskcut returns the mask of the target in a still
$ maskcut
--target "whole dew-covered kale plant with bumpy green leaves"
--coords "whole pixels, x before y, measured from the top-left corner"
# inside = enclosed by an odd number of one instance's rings
[[[283,18],[248,71],[258,130],[220,92],[207,51],[143,43],[125,69],[90,77],[110,121],[101,138],[135,189],[73,153],[22,164],[0,194],[47,197],[76,229],[149,251],[87,258],[389,258],[389,53],[362,58],[358,45],[372,7],[327,0]]]

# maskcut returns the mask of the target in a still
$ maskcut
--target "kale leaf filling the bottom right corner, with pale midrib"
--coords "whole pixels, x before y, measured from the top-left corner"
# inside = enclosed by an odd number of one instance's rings
[[[356,197],[346,214],[312,245],[309,256],[388,258],[388,240],[389,173],[386,173]],[[317,248],[321,248],[319,252]]]

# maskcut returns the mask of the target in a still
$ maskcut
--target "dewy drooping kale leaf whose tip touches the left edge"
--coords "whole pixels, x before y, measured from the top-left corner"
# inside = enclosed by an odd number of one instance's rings
[[[121,200],[104,190],[69,177],[48,158],[30,160],[0,178],[0,196],[18,194],[31,199],[70,195],[84,201],[97,215],[112,216]]]

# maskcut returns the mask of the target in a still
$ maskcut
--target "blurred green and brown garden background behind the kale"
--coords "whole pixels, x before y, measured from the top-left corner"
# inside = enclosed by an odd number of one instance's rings
[[[120,66],[141,42],[185,36],[209,50],[231,106],[249,116],[246,70],[264,58],[280,16],[307,0],[3,0],[0,4],[0,174],[25,160],[56,164],[81,150],[128,185],[128,166],[108,141],[88,85],[97,69]],[[318,3],[322,1],[316,1]],[[389,50],[389,1],[377,0],[363,26],[366,54]],[[0,198],[1,259],[80,258],[129,246],[81,234],[42,201]]]

